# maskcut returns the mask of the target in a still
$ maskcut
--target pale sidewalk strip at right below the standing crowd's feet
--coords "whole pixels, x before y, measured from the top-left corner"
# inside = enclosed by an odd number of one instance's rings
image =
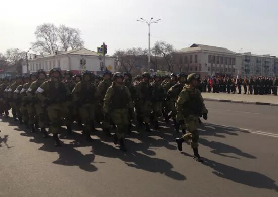
[[[204,100],[247,103],[257,105],[278,106],[278,96],[274,95],[244,95],[244,94],[227,94],[227,93],[202,93]]]

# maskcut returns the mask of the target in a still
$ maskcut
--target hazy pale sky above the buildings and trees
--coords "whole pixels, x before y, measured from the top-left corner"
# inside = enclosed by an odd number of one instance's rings
[[[277,9],[278,0],[2,0],[0,52],[27,50],[44,22],[79,28],[90,50],[105,41],[109,55],[147,48],[147,24],[136,20],[154,17],[161,21],[151,26],[151,46],[164,40],[177,50],[199,43],[278,56]]]

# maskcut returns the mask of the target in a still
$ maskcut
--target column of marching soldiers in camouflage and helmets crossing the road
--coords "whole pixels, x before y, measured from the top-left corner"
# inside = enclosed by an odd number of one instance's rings
[[[216,81],[216,91],[222,91],[222,84]],[[105,71],[100,77],[90,71],[73,76],[70,70],[62,73],[60,68],[51,69],[49,75],[38,70],[1,80],[0,115],[8,118],[11,109],[14,121],[24,124],[31,133],[40,131],[43,138],[51,133],[55,146],[63,144],[58,136],[62,126],[66,126],[67,135],[72,135],[73,122],[78,123],[84,139],[91,142],[95,123],[101,124],[107,137],[112,136],[113,128],[116,130],[114,144],[124,152],[132,120],[137,120],[138,129],[152,132],[161,130],[159,120],[169,123],[172,119],[173,129],[177,133],[181,129],[183,134],[176,139],[178,149],[182,150],[182,142],[191,140],[194,159],[202,161],[197,127],[199,117],[207,119],[208,113],[200,91],[203,86],[197,74],[162,77],[144,72],[133,80],[130,73],[121,72]]]

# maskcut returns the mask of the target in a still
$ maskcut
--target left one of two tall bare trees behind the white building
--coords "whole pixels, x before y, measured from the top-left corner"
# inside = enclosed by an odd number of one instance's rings
[[[37,26],[35,36],[37,41],[32,43],[32,48],[49,54],[58,50],[57,27],[54,24],[44,23]]]

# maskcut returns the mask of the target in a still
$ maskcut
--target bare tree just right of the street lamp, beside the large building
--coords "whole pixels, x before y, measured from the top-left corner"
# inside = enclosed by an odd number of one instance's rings
[[[167,44],[164,41],[157,41],[154,48],[156,48],[157,53],[161,54],[165,61],[167,62],[168,69],[167,71],[173,71],[174,69],[174,60],[172,53],[175,51],[173,45]]]

